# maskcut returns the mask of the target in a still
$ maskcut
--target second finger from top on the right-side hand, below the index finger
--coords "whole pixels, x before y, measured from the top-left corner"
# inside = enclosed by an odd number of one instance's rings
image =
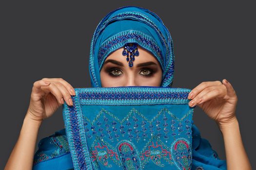
[[[225,85],[216,85],[205,88],[201,91],[192,101],[189,102],[191,107],[194,107],[197,104],[209,101],[217,97],[223,97],[226,95]]]

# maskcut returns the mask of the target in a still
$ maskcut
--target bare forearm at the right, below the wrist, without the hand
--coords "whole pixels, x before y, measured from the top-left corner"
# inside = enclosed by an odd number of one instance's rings
[[[218,123],[217,123],[218,124]],[[245,152],[239,123],[236,117],[228,124],[218,124],[225,145],[228,170],[252,170],[249,158]]]

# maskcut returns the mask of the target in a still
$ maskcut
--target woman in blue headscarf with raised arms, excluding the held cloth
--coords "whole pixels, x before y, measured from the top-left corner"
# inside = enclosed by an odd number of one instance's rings
[[[104,17],[94,33],[90,53],[93,87],[172,86],[174,51],[171,35],[161,19],[139,7],[122,7]],[[64,101],[73,105],[74,88],[63,79],[43,78],[34,83],[20,137],[5,169],[72,169],[65,129],[39,142],[38,129]],[[227,160],[220,160],[193,124],[193,167],[197,170],[250,170],[236,119],[236,92],[223,80],[203,82],[192,89],[189,105],[198,105],[222,132]],[[236,142],[234,142],[236,141]],[[25,153],[25,154],[24,154]],[[34,162],[33,162],[34,157]]]

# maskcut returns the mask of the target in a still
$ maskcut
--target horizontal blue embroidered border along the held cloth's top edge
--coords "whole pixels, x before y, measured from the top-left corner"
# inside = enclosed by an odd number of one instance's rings
[[[101,88],[78,88],[80,103],[87,104],[186,104],[189,92],[188,88],[166,87],[101,87]],[[118,103],[117,103],[118,102]]]

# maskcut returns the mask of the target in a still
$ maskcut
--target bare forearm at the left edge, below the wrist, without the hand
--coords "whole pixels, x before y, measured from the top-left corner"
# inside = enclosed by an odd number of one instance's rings
[[[41,123],[25,117],[20,136],[4,170],[31,170],[38,131]]]

